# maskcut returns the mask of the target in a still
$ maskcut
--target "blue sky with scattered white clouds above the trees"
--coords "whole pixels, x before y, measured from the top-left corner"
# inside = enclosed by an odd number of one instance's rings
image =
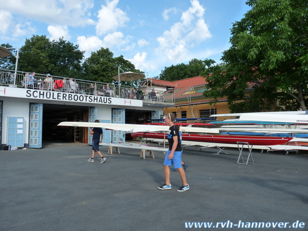
[[[101,47],[157,77],[192,59],[221,63],[246,0],[0,0],[0,44],[33,35],[65,40],[89,57]]]

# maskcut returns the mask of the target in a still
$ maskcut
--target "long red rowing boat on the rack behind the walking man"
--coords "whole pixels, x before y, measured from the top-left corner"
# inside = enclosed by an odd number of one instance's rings
[[[143,137],[153,139],[167,139],[167,134],[154,132],[135,132],[131,133],[132,137]],[[262,136],[237,136],[237,135],[203,135],[203,134],[182,134],[183,141],[235,144],[236,142],[247,142],[249,145],[281,145],[292,140],[289,137],[262,137]]]

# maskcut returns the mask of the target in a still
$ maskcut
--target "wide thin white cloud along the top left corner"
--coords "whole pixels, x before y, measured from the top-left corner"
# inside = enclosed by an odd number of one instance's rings
[[[2,10],[19,14],[24,19],[69,26],[94,24],[94,21],[89,18],[89,10],[93,6],[93,0],[5,0],[1,2]]]

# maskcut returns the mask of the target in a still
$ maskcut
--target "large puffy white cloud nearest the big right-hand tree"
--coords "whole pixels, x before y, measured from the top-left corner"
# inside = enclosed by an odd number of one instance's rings
[[[170,30],[157,38],[157,55],[164,54],[171,62],[186,60],[188,48],[212,37],[203,19],[205,9],[198,0],[191,0],[191,6],[182,13],[181,21],[174,23]]]

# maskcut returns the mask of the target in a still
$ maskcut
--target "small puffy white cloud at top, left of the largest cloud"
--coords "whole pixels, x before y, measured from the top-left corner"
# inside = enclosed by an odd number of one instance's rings
[[[116,31],[119,27],[125,26],[125,23],[129,21],[126,13],[116,8],[118,2],[119,0],[106,0],[106,6],[101,6],[97,16],[98,23],[95,27],[97,36]]]

